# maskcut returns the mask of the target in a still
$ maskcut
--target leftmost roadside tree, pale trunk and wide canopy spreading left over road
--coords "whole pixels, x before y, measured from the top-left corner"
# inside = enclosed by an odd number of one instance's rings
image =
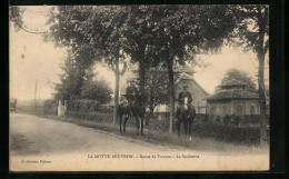
[[[122,44],[126,30],[128,7],[121,6],[63,6],[51,11],[50,33],[46,39],[57,46],[66,46],[74,57],[82,57],[87,64],[104,62],[113,70],[116,77],[113,122],[118,117],[119,63],[123,59]],[[86,56],[87,58],[83,58]]]

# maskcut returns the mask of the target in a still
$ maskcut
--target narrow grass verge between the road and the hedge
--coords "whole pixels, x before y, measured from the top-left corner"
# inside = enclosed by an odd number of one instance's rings
[[[143,140],[155,145],[161,146],[169,146],[176,148],[183,148],[183,149],[191,149],[198,151],[206,151],[206,152],[221,152],[226,155],[235,155],[235,153],[263,153],[269,150],[269,147],[259,147],[259,146],[246,146],[246,145],[238,145],[238,143],[230,143],[225,141],[219,141],[216,139],[209,138],[200,138],[200,137],[192,137],[192,140],[186,139],[183,136],[177,137],[176,133],[168,133],[168,132],[159,132],[153,130],[147,130],[144,127],[144,136],[137,136],[137,129],[132,127],[127,127],[126,133],[120,133],[119,126],[107,123],[107,122],[96,122],[91,120],[83,120],[83,119],[76,119],[71,117],[54,117],[48,116],[46,118],[61,120],[64,122],[71,122],[78,126],[93,128],[97,130],[107,131],[114,135],[126,136],[127,138]]]

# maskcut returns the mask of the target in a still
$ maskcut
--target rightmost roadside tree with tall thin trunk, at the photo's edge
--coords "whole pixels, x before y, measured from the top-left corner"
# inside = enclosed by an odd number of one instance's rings
[[[258,68],[258,92],[260,105],[260,143],[267,140],[266,130],[266,95],[263,82],[265,56],[269,49],[269,6],[237,6],[235,14],[238,21],[237,37],[246,43],[246,49],[252,49],[257,53]]]

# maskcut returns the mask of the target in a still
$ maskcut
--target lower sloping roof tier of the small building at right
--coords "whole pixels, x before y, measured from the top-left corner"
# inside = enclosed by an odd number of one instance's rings
[[[257,93],[250,92],[248,90],[222,90],[213,96],[207,98],[207,100],[218,100],[218,99],[257,99],[259,96]]]

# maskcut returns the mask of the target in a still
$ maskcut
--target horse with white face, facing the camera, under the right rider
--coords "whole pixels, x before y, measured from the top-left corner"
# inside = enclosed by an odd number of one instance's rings
[[[188,107],[188,97],[185,98],[185,105],[177,109],[177,129],[178,129],[178,137],[180,137],[180,123],[182,122],[185,126],[185,136],[186,138],[190,138],[191,140],[191,126],[196,118],[196,109],[193,106],[190,108]]]

